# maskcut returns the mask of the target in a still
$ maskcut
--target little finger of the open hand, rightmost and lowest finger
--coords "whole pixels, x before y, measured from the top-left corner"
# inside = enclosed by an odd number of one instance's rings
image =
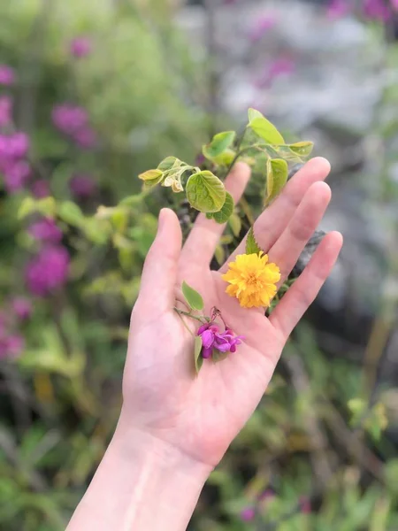
[[[325,235],[310,264],[272,312],[270,322],[285,338],[291,334],[324,285],[339,256],[342,242],[342,235],[338,232]]]

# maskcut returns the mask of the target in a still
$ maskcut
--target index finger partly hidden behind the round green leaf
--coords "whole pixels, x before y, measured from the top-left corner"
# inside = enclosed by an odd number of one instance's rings
[[[241,199],[249,178],[250,168],[247,164],[238,162],[233,166],[225,181],[226,190],[233,196],[233,203],[236,204]],[[214,219],[207,219],[204,214],[200,214],[185,242],[181,260],[189,260],[201,266],[208,265],[225,228],[226,224],[220,225]]]

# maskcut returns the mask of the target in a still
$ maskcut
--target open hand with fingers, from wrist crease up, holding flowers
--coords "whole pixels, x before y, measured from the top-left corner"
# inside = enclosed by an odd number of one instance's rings
[[[312,159],[256,220],[256,239],[279,266],[281,281],[295,266],[330,201],[330,189],[323,182],[329,169],[325,159]],[[249,167],[235,165],[226,179],[235,202],[248,181]],[[226,295],[221,274],[227,264],[210,271],[223,229],[200,215],[181,250],[177,217],[172,211],[161,212],[132,314],[123,381],[123,410],[134,427],[209,466],[217,465],[255,410],[288,335],[317,296],[342,243],[339,233],[325,236],[310,265],[267,319],[264,310],[241,308]],[[244,242],[233,256],[241,253]],[[228,327],[245,337],[225,360],[205,361],[197,378],[192,335],[173,311],[182,281],[201,293],[207,315],[216,306]],[[195,331],[198,323],[187,319],[186,325]]]

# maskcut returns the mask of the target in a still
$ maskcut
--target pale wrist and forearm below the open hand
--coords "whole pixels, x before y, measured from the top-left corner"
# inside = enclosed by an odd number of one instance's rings
[[[121,420],[67,531],[183,531],[209,473]]]

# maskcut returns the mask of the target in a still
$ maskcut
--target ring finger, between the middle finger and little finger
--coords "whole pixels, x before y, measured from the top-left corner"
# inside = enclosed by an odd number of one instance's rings
[[[323,218],[332,192],[325,182],[315,182],[305,194],[295,215],[288,223],[282,235],[268,252],[270,262],[280,269],[281,284],[295,267],[306,243]]]

